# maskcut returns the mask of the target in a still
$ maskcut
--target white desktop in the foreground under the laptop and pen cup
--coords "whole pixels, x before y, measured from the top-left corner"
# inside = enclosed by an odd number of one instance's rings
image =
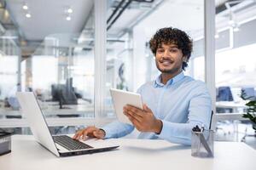
[[[255,170],[256,151],[243,143],[216,142],[214,158],[190,156],[190,147],[164,140],[111,139],[118,150],[58,158],[32,136],[15,135],[12,152],[0,156],[1,170]]]

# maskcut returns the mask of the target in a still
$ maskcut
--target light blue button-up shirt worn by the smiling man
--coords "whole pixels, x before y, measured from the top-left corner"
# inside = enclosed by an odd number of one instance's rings
[[[143,84],[137,91],[143,103],[163,122],[160,134],[140,133],[138,139],[166,139],[177,144],[191,144],[191,129],[195,125],[209,127],[212,102],[206,84],[184,76],[183,72],[173,77],[166,85],[161,77]],[[105,138],[119,138],[131,133],[134,126],[112,122],[102,129]]]

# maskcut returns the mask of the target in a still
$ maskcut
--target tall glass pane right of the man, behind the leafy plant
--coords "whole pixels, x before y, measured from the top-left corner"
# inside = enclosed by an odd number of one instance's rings
[[[247,134],[255,134],[252,122],[241,117],[248,101],[241,94],[256,98],[256,4],[242,0],[222,6],[215,17],[217,139],[246,141]]]

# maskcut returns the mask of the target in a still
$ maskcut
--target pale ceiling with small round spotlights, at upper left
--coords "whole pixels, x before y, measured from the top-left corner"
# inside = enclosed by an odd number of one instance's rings
[[[22,9],[26,2],[31,18]],[[83,30],[93,0],[7,0],[7,8],[20,32],[29,41],[42,41],[56,33],[79,33]],[[65,9],[73,8],[72,20],[66,20]]]

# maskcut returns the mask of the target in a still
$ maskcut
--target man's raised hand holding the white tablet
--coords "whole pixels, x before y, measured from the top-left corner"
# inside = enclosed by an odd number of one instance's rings
[[[143,105],[143,110],[132,105],[125,105],[123,108],[125,116],[129,118],[132,124],[140,132],[160,133],[162,122],[154,117],[153,112],[147,105]]]

